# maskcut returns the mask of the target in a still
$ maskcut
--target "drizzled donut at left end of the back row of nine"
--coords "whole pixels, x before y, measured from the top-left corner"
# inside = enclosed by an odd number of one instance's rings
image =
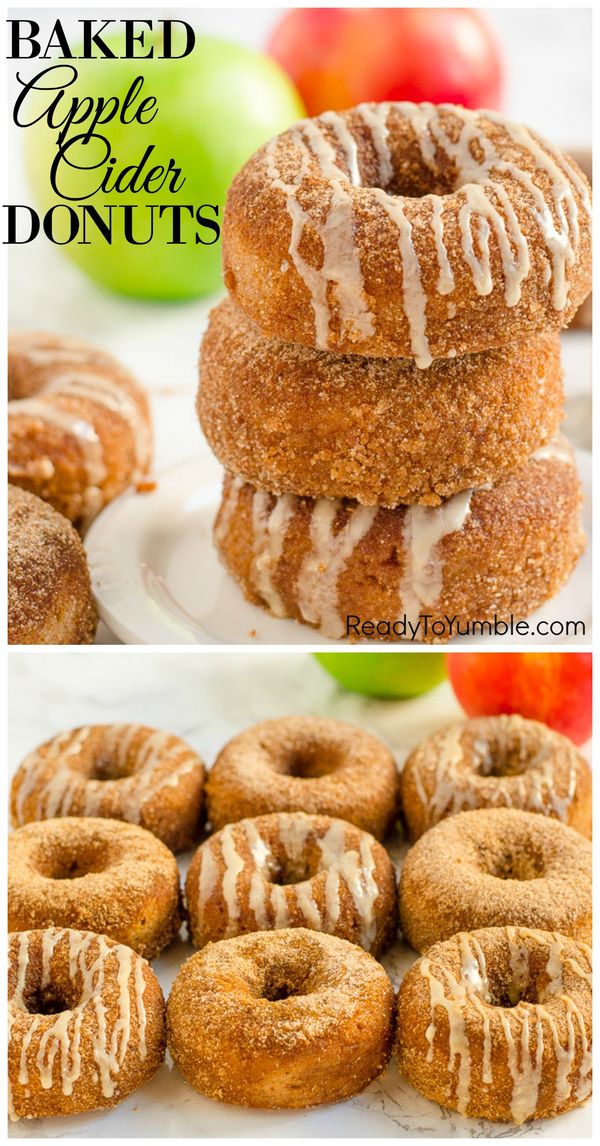
[[[13,826],[102,816],[147,827],[172,851],[198,839],[205,768],[179,737],[144,724],[92,724],[46,740],[13,777]]]

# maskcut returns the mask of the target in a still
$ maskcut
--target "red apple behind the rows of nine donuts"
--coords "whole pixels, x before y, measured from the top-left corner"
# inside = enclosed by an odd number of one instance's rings
[[[589,652],[450,652],[448,675],[467,716],[520,713],[584,744],[592,732]]]

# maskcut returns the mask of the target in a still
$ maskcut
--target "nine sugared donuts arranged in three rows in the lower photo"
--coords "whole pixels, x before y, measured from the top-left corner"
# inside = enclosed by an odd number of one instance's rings
[[[380,842],[398,813],[400,888]],[[542,724],[453,725],[398,775],[362,729],[271,720],[208,777],[169,732],[78,728],[22,762],[11,817],[15,1118],[113,1106],[167,1044],[202,1094],[250,1107],[341,1101],[392,1053],[469,1116],[521,1124],[590,1093],[591,777]],[[398,918],[421,956],[396,997]],[[165,1006],[148,960],[183,921],[199,950]]]

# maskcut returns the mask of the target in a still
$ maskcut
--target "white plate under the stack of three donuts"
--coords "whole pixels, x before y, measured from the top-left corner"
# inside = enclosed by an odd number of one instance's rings
[[[559,596],[529,620],[583,620],[585,636],[457,637],[452,644],[590,642],[592,465],[585,450],[576,455],[587,549]],[[102,620],[126,644],[347,644],[244,599],[212,543],[221,474],[212,457],[189,460],[164,473],[152,493],[123,494],[94,521],[86,549]]]

